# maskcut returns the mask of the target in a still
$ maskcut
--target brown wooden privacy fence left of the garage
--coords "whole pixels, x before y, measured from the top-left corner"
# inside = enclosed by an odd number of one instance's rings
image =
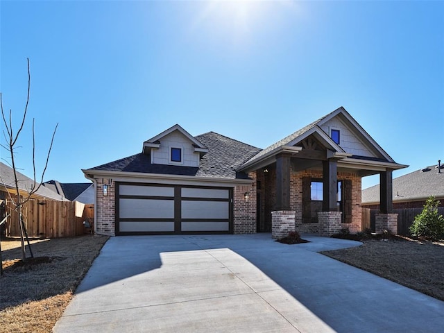
[[[12,209],[11,209],[12,208]],[[6,221],[6,237],[19,237],[18,214],[6,202],[11,214]],[[30,200],[22,211],[29,237],[74,237],[85,234],[83,221],[94,223],[94,205],[77,201]]]

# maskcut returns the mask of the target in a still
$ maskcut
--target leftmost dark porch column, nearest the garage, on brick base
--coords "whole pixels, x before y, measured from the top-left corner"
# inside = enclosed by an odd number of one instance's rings
[[[290,210],[290,155],[276,156],[276,210]]]

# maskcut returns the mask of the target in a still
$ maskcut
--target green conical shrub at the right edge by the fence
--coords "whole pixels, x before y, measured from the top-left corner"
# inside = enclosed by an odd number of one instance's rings
[[[439,201],[430,196],[421,214],[416,215],[415,221],[410,227],[412,236],[424,237],[425,239],[444,239],[444,217],[438,215]]]

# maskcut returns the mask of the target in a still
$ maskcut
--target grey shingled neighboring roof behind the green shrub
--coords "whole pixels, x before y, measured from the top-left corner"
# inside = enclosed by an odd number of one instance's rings
[[[429,196],[444,198],[443,165],[441,165],[441,173],[438,173],[438,166],[435,164],[393,178],[393,203],[422,201],[429,198]],[[379,185],[362,190],[362,205],[374,204],[379,204]]]

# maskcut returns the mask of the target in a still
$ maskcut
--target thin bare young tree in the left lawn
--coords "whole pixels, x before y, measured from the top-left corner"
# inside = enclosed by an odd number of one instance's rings
[[[26,250],[25,250],[25,237],[26,237],[26,241],[28,241],[28,236],[26,233],[26,227],[25,227],[25,223],[23,221],[23,214],[22,214],[22,210],[24,205],[31,200],[33,194],[35,194],[35,192],[37,192],[40,189],[40,186],[42,186],[42,182],[43,182],[43,178],[44,178],[44,173],[46,172],[46,168],[48,167],[48,162],[49,162],[49,155],[51,154],[51,149],[53,146],[53,142],[54,142],[54,137],[56,136],[56,130],[58,127],[58,123],[56,124],[56,128],[54,128],[53,131],[53,135],[51,137],[51,144],[49,145],[49,149],[48,149],[48,153],[46,154],[46,162],[44,164],[44,169],[42,171],[42,176],[40,178],[40,182],[37,182],[37,175],[36,175],[36,171],[35,171],[35,131],[34,131],[34,124],[35,124],[35,119],[33,119],[33,129],[32,129],[32,134],[33,134],[33,186],[31,187],[31,189],[27,189],[26,194],[20,191],[20,187],[19,187],[19,178],[17,176],[17,165],[16,165],[16,161],[15,161],[15,154],[17,153],[17,140],[19,139],[19,135],[20,133],[22,133],[22,130],[24,129],[24,125],[25,125],[25,121],[26,121],[26,114],[28,112],[28,104],[29,104],[29,96],[30,96],[30,92],[31,92],[31,71],[30,71],[30,67],[29,67],[29,58],[28,60],[28,93],[26,95],[26,105],[24,108],[24,112],[22,115],[22,121],[21,124],[18,128],[17,131],[15,131],[15,128],[13,128],[12,126],[12,110],[9,110],[9,117],[6,117],[6,114],[3,110],[3,99],[1,96],[1,92],[0,92],[0,106],[1,106],[1,117],[3,118],[3,123],[5,125],[5,130],[3,130],[3,137],[5,138],[6,144],[1,144],[1,146],[3,148],[6,149],[6,151],[8,151],[8,155],[10,158],[10,162],[8,162],[8,164],[10,165],[10,167],[13,170],[13,174],[14,174],[14,194],[15,196],[12,196],[12,194],[8,191],[9,194],[9,198],[10,198],[10,202],[12,203],[12,207],[14,207],[15,211],[17,212],[17,223],[19,223],[19,228],[20,228],[20,238],[22,240],[22,260],[26,261]],[[0,182],[3,183],[3,186],[6,188],[6,184],[3,182],[2,179],[0,179]],[[30,248],[31,251],[31,246],[29,244],[28,241],[28,248]],[[31,251],[31,256],[32,255],[32,251]]]

